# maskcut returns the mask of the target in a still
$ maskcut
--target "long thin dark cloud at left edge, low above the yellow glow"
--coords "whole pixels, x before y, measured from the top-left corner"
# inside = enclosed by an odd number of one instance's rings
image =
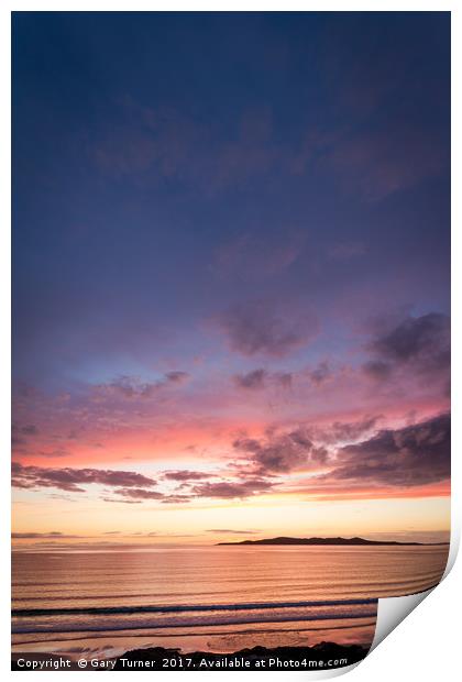
[[[96,483],[113,487],[155,485],[153,479],[132,471],[102,469],[45,469],[12,463],[12,485],[22,488],[56,487],[62,491],[84,493],[81,485]]]

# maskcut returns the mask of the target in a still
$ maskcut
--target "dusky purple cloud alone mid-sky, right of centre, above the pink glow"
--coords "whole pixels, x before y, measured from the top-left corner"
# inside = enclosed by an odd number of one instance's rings
[[[229,308],[217,320],[230,348],[245,356],[283,358],[306,345],[318,332],[315,317],[289,316],[265,301],[248,301]]]

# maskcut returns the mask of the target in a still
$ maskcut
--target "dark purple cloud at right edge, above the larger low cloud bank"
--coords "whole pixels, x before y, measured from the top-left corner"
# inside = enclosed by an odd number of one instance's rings
[[[438,312],[409,316],[377,334],[369,350],[375,358],[363,370],[374,378],[386,380],[395,370],[406,367],[418,375],[446,377],[450,369],[449,317]]]

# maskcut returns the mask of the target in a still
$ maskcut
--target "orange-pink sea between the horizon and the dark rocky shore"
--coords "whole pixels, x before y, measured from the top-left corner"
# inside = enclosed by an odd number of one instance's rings
[[[448,546],[14,551],[13,651],[114,656],[162,646],[362,644],[376,600],[421,592]]]

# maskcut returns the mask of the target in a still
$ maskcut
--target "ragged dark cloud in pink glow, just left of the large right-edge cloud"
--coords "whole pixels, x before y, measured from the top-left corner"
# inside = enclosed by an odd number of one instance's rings
[[[286,433],[270,432],[263,440],[239,438],[233,447],[249,457],[258,474],[317,468],[328,457],[326,448],[315,444],[309,431],[301,427]]]

